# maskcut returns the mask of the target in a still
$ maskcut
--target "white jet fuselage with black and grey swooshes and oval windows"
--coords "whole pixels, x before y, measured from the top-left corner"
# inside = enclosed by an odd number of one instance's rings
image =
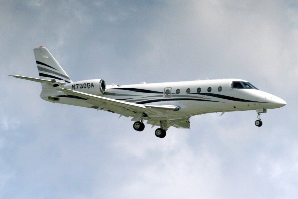
[[[240,79],[217,79],[124,86],[110,85],[100,96],[136,104],[181,107],[179,111],[172,111],[167,114],[167,119],[184,118],[211,112],[244,111],[260,108],[273,109],[286,104],[281,98],[257,89],[232,88],[231,84],[235,81],[246,82]],[[178,89],[180,92],[176,92]],[[58,103],[94,108],[84,99],[66,96],[62,92],[61,95],[57,95],[57,92],[55,95],[60,97]],[[50,101],[48,96],[50,96],[49,93],[47,93],[47,96],[41,97]],[[143,119],[162,118],[156,115],[156,117],[144,117]]]

